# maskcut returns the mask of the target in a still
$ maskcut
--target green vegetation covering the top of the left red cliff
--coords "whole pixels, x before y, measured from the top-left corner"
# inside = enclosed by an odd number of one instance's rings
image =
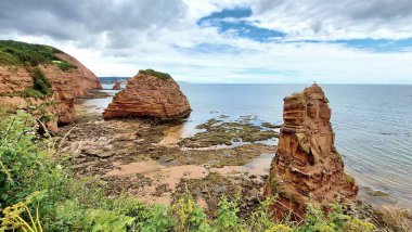
[[[63,52],[50,46],[0,40],[0,65],[37,66],[55,63],[64,72],[77,68],[77,66],[59,59],[56,53]]]

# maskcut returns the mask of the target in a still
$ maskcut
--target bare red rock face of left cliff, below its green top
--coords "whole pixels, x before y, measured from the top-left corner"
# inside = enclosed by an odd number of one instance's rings
[[[62,70],[54,64],[39,64],[36,67],[0,65],[0,107],[26,108],[38,118],[44,119],[47,127],[55,132],[57,124],[69,124],[75,117],[74,99],[91,89],[101,89],[96,76],[65,53],[57,53],[77,68]],[[40,69],[50,81],[52,93],[44,98],[16,94],[34,87],[33,70]],[[33,107],[35,106],[35,107]]]

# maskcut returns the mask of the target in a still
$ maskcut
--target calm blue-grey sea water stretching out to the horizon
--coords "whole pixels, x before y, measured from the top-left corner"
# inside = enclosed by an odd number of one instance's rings
[[[190,136],[196,125],[221,115],[229,116],[226,120],[254,116],[282,124],[283,98],[308,86],[180,83],[193,108],[182,134]],[[411,208],[412,86],[320,86],[330,100],[335,145],[346,171],[360,185],[396,196]],[[86,104],[99,112],[110,102],[111,98]]]

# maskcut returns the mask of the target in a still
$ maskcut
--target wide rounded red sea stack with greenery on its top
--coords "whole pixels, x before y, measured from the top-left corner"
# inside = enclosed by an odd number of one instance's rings
[[[139,70],[127,81],[103,113],[105,119],[155,117],[172,119],[191,113],[186,96],[170,75],[153,69]]]

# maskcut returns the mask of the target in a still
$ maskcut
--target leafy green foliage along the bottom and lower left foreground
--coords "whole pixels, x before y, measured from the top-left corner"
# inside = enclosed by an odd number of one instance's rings
[[[211,217],[188,193],[170,207],[104,195],[93,179],[78,179],[53,160],[59,145],[41,138],[30,115],[0,113],[0,231],[373,231],[371,223],[309,207],[306,221],[271,220],[265,201],[248,219],[223,197]]]

